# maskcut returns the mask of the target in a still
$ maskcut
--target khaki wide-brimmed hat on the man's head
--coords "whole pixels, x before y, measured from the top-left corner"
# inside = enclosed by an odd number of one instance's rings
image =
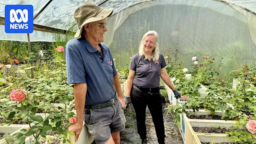
[[[107,18],[111,16],[113,10],[113,8],[102,9],[94,3],[87,3],[79,6],[74,12],[74,19],[78,26],[78,30],[74,37],[79,38],[81,36],[85,24]]]

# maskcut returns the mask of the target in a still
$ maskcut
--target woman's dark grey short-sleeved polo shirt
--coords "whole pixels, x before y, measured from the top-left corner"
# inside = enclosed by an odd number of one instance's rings
[[[145,56],[135,54],[132,56],[129,68],[135,71],[133,84],[142,88],[157,88],[160,86],[161,68],[166,67],[162,54],[159,55],[158,63],[152,59],[145,60]]]

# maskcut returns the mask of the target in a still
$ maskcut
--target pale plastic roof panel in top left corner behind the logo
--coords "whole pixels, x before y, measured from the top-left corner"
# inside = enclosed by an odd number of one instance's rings
[[[5,4],[31,4],[34,8],[34,16],[47,4],[49,0],[0,0],[0,16],[4,17]]]

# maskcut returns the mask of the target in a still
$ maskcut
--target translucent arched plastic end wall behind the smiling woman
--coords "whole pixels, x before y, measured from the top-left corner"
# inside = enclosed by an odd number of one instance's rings
[[[117,17],[127,16],[123,11],[107,22],[112,24],[118,20]],[[136,8],[131,7],[130,11],[136,11]],[[255,21],[252,23],[255,24]],[[203,62],[203,56],[211,55],[216,63],[223,58],[220,70],[223,75],[242,64],[252,63],[256,56],[256,45],[250,36],[247,17],[224,2],[154,0],[128,16],[116,28],[110,50],[119,65],[130,63],[130,56],[138,52],[140,40],[148,30],[158,32],[162,54],[165,55],[169,48],[173,53],[177,49],[178,61],[184,61],[187,67],[193,64],[192,56]]]

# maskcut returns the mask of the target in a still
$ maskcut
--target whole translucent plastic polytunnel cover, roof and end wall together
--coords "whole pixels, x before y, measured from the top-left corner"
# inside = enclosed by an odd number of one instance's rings
[[[74,10],[88,2],[114,8],[104,43],[120,66],[129,64],[148,30],[158,32],[162,54],[178,50],[188,67],[192,56],[223,58],[222,74],[254,62],[256,0],[0,0],[0,40],[28,41],[26,34],[4,32],[4,4],[32,4],[30,41],[51,42],[56,33],[76,31]]]

